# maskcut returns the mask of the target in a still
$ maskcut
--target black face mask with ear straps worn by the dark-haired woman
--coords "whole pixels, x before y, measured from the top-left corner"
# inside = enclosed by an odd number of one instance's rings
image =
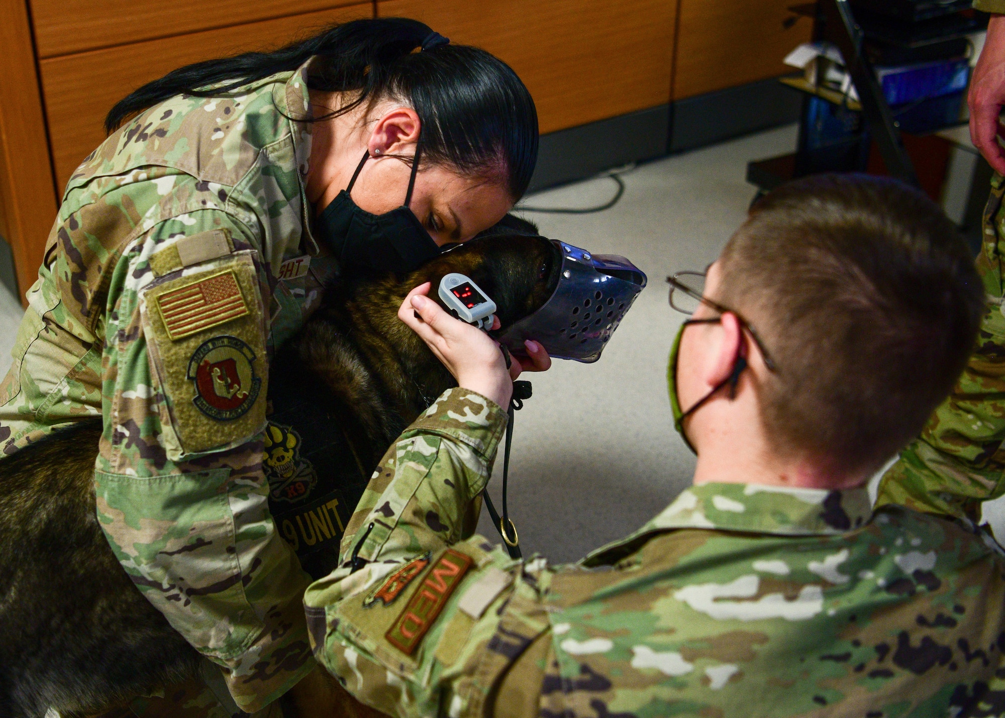
[[[343,266],[406,274],[418,268],[440,253],[440,248],[409,208],[415,173],[419,169],[419,147],[412,160],[405,203],[385,214],[371,214],[350,196],[360,170],[370,159],[369,150],[360,160],[349,186],[325,207],[316,222],[324,239]]]

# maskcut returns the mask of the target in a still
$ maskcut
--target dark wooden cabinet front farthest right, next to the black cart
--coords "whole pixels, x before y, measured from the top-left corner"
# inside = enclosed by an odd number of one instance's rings
[[[792,71],[782,59],[809,41],[813,21],[794,15],[791,5],[791,0],[680,0],[673,99]]]

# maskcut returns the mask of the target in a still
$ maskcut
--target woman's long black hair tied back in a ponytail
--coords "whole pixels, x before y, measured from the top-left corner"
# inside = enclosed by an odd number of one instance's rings
[[[105,128],[111,133],[134,113],[176,95],[226,95],[319,55],[310,88],[358,93],[327,118],[384,98],[399,100],[422,123],[423,160],[464,174],[502,169],[510,194],[520,199],[538,161],[538,113],[531,94],[506,62],[477,47],[440,44],[414,52],[431,34],[427,25],[406,18],[353,20],[272,52],[196,62],[120,101]]]

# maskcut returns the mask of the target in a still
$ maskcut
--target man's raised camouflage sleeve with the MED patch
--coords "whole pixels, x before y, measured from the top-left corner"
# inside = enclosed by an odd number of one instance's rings
[[[506,420],[466,389],[440,396],[375,472],[342,566],[305,595],[315,656],[378,710],[481,715],[500,677],[549,630],[544,561],[522,564],[464,538]],[[367,563],[354,572],[357,551]]]

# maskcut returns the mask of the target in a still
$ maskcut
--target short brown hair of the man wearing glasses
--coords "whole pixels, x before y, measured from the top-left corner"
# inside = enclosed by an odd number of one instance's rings
[[[922,192],[816,175],[752,209],[720,259],[720,297],[777,364],[761,391],[776,450],[875,470],[917,435],[974,348],[973,256]]]

